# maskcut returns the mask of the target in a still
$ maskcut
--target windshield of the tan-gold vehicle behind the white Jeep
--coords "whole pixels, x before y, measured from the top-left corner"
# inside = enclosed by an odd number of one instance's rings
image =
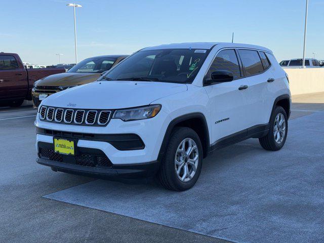
[[[115,58],[88,58],[76,64],[68,72],[104,72],[109,70],[115,61]]]

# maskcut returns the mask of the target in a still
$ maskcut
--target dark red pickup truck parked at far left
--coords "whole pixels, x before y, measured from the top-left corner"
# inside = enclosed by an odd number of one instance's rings
[[[31,100],[35,81],[61,72],[65,69],[26,69],[18,54],[0,52],[0,105],[20,106],[24,100]]]

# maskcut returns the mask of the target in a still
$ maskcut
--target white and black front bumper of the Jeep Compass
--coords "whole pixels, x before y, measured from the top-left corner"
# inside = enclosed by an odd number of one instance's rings
[[[35,120],[37,133],[35,147],[39,157],[37,162],[70,173],[75,171],[78,174],[83,172],[121,177],[130,175],[150,177],[158,170],[159,152],[170,119],[166,112],[160,111],[151,119],[128,122],[111,119],[106,126],[100,127],[51,123],[39,119],[37,114]],[[71,159],[72,155],[65,155],[69,157],[60,159],[41,157],[42,148],[51,149],[53,152],[54,138],[73,140],[75,157],[83,153],[90,156],[100,153],[100,156],[106,156],[111,162],[111,168],[98,168],[97,157],[94,159],[94,165],[90,166],[92,168],[77,165],[79,161],[75,160],[82,158]]]

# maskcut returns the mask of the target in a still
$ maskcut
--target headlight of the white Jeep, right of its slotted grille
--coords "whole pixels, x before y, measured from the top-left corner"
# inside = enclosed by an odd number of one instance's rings
[[[124,121],[152,118],[160,111],[161,105],[148,105],[130,109],[120,109],[113,113],[112,118]]]

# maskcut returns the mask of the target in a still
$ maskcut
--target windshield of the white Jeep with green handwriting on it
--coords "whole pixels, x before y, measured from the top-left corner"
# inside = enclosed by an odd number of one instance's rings
[[[111,69],[101,80],[192,83],[208,53],[209,50],[201,49],[139,51]]]

